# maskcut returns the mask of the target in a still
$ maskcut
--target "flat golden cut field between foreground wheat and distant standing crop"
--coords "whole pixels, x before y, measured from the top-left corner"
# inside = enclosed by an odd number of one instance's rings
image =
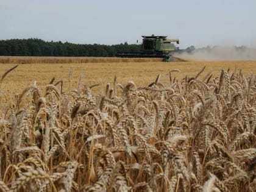
[[[57,58],[59,59],[59,58]],[[13,64],[0,64],[0,75]],[[126,84],[133,80],[138,86],[150,84],[158,74],[161,74],[160,82],[168,83],[169,70],[179,69],[180,73],[172,73],[177,79],[186,75],[194,76],[202,67],[205,67],[204,73],[212,71],[213,76],[219,75],[221,69],[230,69],[238,73],[242,69],[243,74],[247,76],[256,74],[256,61],[233,61],[233,62],[98,62],[98,63],[40,63],[23,64],[18,66],[12,73],[8,74],[2,84],[2,91],[11,91],[20,93],[24,88],[37,81],[39,87],[44,87],[55,77],[56,80],[63,80],[63,84],[68,85],[69,69],[73,66],[73,77],[71,87],[77,87],[80,74],[84,76],[84,84],[92,85],[99,83],[100,86],[93,90],[102,90],[105,84],[112,83],[114,77],[121,84]],[[202,76],[204,76],[204,73]],[[67,88],[68,86],[64,86]],[[11,89],[10,89],[11,88]]]

